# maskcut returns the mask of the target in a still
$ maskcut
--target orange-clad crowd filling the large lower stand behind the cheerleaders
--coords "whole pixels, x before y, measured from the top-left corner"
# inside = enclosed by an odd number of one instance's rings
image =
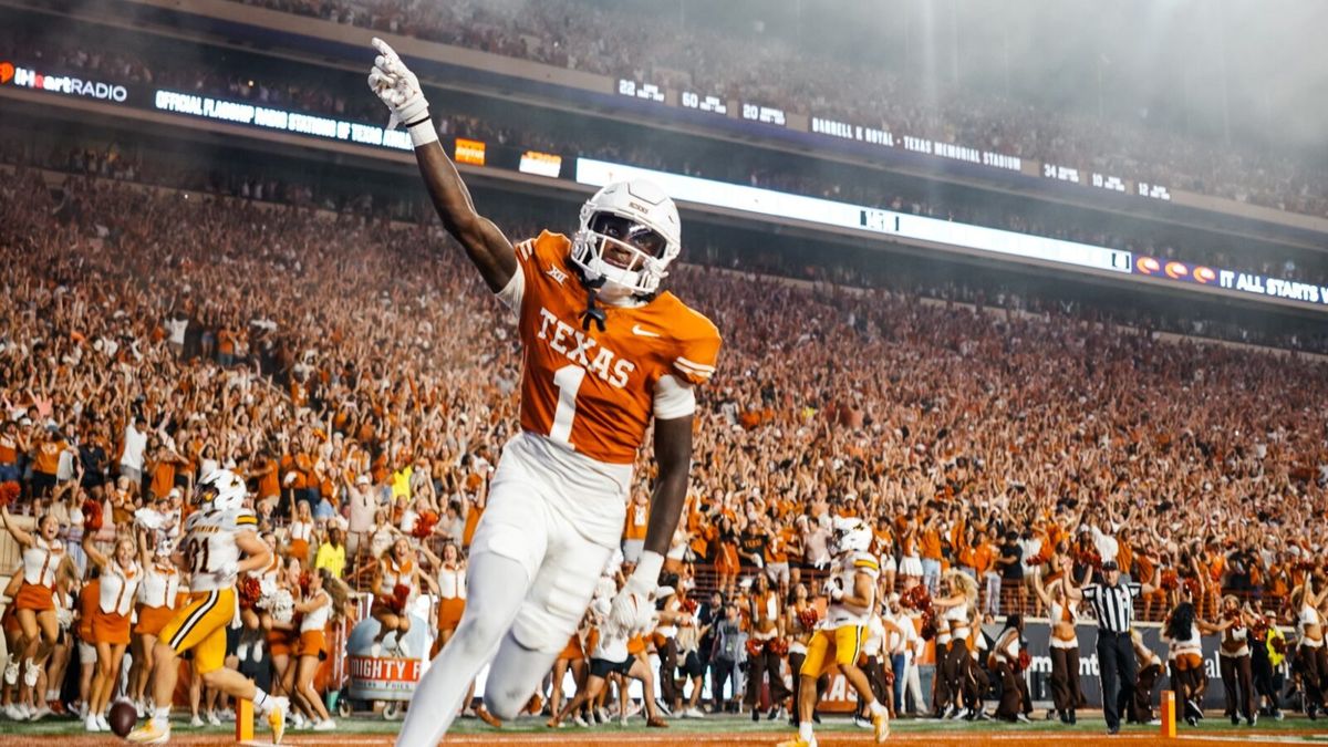
[[[53,525],[73,594],[112,548],[142,549],[142,512],[169,514],[202,475],[230,468],[250,481],[296,598],[301,569],[381,593],[384,564],[418,552],[429,581],[416,589],[441,595],[445,638],[486,477],[515,427],[513,328],[437,226],[252,191],[186,197],[82,177],[50,190],[25,167],[0,185],[8,512]],[[542,223],[515,203],[495,218],[514,237]],[[671,283],[726,339],[721,375],[700,393],[692,494],[669,554],[679,597],[665,605],[681,610],[691,594],[695,614],[672,619],[696,635],[691,647],[677,630],[673,643],[637,643],[681,654],[693,686],[684,702],[660,678],[671,711],[697,707],[706,673],[714,708],[728,679],[742,690],[738,651],[765,614],[753,599],[790,599],[777,617],[797,637],[833,517],[871,524],[883,598],[959,589],[988,621],[1045,614],[1044,577],[1112,561],[1154,582],[1143,618],[1189,601],[1215,621],[1224,594],[1288,623],[1317,605],[1305,589],[1316,577],[1324,589],[1328,536],[1319,362],[741,270],[689,266]],[[637,496],[651,480],[641,467]],[[648,509],[628,513],[631,561]],[[695,625],[706,614],[709,638]],[[44,712],[57,698],[41,678],[58,682],[61,659],[44,665],[37,635],[7,631],[37,653],[25,686],[5,690],[7,712]],[[98,659],[80,659],[89,679]],[[308,685],[305,667],[288,677]],[[1301,681],[1312,707],[1317,690]],[[920,693],[914,703],[932,706]],[[1000,715],[1031,707],[1019,703]],[[331,722],[312,706],[308,716]]]

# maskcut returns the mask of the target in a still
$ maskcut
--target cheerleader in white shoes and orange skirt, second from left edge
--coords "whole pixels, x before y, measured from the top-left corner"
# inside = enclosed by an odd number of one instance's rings
[[[97,673],[92,681],[92,699],[84,728],[110,731],[105,711],[116,689],[120,663],[129,646],[129,614],[134,606],[142,569],[134,561],[134,541],[121,537],[112,556],[102,554],[92,541],[92,532],[84,534],[82,548],[88,561],[97,568],[101,589],[98,603],[92,613],[92,639],[97,646]]]

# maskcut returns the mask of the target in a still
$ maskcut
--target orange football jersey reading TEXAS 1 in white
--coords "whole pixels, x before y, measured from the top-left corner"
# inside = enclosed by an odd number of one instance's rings
[[[664,291],[637,307],[600,303],[604,331],[582,327],[586,288],[571,241],[543,231],[517,245],[525,287],[518,310],[523,370],[521,427],[606,464],[632,464],[653,416],[656,384],[703,384],[720,332]]]

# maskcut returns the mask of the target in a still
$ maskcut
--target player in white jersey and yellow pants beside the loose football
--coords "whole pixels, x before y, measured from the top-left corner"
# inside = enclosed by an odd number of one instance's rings
[[[286,732],[286,698],[271,696],[252,679],[226,669],[226,629],[239,615],[235,580],[242,573],[267,568],[271,550],[258,536],[258,517],[243,508],[244,481],[234,472],[218,469],[198,484],[194,504],[185,520],[185,542],[173,556],[190,574],[189,602],[162,629],[153,649],[153,718],[129,734],[139,744],[170,740],[170,707],[175,694],[178,657],[194,651],[194,667],[211,687],[232,698],[252,700],[272,727],[272,743]]]

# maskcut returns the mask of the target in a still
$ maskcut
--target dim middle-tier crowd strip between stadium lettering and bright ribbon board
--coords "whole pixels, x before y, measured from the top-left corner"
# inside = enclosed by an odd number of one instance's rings
[[[57,41],[36,40],[13,31],[7,35],[5,45],[20,58],[40,60],[50,72],[106,76],[120,82],[154,84],[190,93],[268,106],[288,106],[349,120],[381,120],[378,106],[373,101],[355,93],[348,94],[360,89],[359,77],[340,72],[286,66],[280,74],[274,74],[260,58],[243,54],[219,52],[215,56],[194,54],[193,58],[185,60],[177,53],[162,49],[143,48],[130,52],[133,48],[130,44],[116,45],[116,52],[100,52],[108,47],[106,41],[88,37],[86,32],[72,33]],[[169,64],[163,61],[167,57]],[[495,121],[491,113],[482,116],[462,106],[445,108],[438,118],[438,130],[444,136],[467,137],[489,144],[578,153],[915,215],[1077,241],[1162,261],[1179,259],[1288,280],[1328,284],[1328,265],[1313,250],[1254,245],[1212,234],[1199,243],[1193,243],[1193,231],[1158,223],[1129,225],[1104,218],[1085,221],[1082,215],[1064,214],[1028,203],[981,205],[972,198],[938,195],[935,190],[898,181],[882,183],[878,174],[826,169],[807,171],[797,163],[761,158],[756,154],[748,158],[708,158],[701,152],[689,153],[689,149],[673,154],[672,149],[641,145],[639,138],[610,128],[590,130],[584,122],[572,124],[535,117],[515,126]],[[190,175],[197,177],[197,174]]]

